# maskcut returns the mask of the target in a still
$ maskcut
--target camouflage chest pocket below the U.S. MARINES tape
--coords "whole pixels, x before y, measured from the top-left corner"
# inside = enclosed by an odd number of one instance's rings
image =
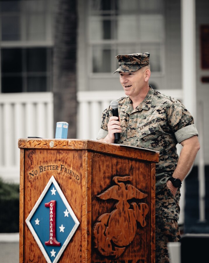
[[[139,139],[144,148],[156,150],[159,152],[162,152],[167,148],[163,131],[157,123],[149,127],[144,127],[142,130],[138,130],[138,132]]]

